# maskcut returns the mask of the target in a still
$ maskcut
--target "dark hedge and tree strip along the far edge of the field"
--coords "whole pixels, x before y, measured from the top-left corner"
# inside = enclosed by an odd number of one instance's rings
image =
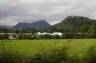
[[[89,38],[96,38],[96,34],[75,34],[75,33],[63,33],[62,36],[59,35],[38,35],[37,33],[15,33],[15,34],[0,34],[0,40],[35,40],[35,39],[89,39]]]

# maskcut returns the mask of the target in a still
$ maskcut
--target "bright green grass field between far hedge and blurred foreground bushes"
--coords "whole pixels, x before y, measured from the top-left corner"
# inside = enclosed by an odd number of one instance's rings
[[[82,56],[88,47],[96,46],[96,39],[0,40],[1,51],[12,50],[28,56],[64,46],[70,55]]]

